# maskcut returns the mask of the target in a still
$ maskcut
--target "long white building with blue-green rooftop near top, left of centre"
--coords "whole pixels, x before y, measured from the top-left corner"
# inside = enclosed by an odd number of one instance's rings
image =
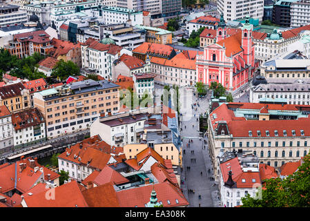
[[[130,23],[132,26],[143,24],[142,10],[134,10],[128,8],[117,8],[110,6],[99,6],[95,10],[95,17],[103,18],[106,25],[115,23]]]

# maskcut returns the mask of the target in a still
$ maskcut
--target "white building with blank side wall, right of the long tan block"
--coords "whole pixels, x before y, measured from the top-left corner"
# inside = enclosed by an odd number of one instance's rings
[[[90,136],[99,135],[104,142],[112,146],[137,144],[140,135],[144,133],[144,122],[147,118],[148,113],[99,117],[90,126]]]

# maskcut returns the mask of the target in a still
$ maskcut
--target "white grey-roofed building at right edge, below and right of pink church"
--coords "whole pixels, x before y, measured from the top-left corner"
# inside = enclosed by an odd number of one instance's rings
[[[259,76],[259,75],[258,75]],[[310,105],[310,79],[253,79],[250,102],[278,101],[284,104]]]

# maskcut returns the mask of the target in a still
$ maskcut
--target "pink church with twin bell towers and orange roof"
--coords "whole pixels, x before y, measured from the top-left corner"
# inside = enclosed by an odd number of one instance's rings
[[[246,22],[235,35],[226,37],[223,19],[217,28],[216,40],[204,48],[203,55],[197,55],[197,81],[207,85],[216,81],[227,90],[236,90],[253,78],[259,66],[254,57],[252,26]]]

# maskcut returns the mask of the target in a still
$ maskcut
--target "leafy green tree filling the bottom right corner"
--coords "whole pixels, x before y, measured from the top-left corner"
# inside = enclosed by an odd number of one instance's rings
[[[309,207],[310,155],[303,158],[298,171],[284,177],[266,180],[261,197],[242,198],[242,207]]]

